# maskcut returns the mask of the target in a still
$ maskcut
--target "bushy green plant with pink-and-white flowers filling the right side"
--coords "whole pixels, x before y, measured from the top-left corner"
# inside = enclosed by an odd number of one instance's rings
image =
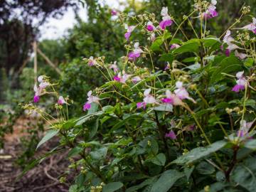
[[[49,78],[38,78],[35,104],[24,107],[50,124],[38,147],[60,138],[42,158],[69,150],[67,174],[76,174],[70,191],[255,191],[254,24],[243,23],[249,16],[244,7],[220,37],[210,36],[217,5],[196,1],[181,23],[166,7],[160,21],[118,11],[127,55],[114,63],[104,56],[84,59],[85,68],[97,68],[106,82],[81,95],[83,117],[70,119],[68,98]],[[182,30],[185,22],[195,38]],[[183,39],[176,38],[179,32]],[[139,44],[138,33],[147,45]],[[55,95],[53,115],[37,107],[47,94]]]

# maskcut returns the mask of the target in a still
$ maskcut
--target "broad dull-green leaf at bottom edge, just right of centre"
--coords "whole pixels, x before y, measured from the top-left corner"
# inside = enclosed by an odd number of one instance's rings
[[[184,174],[176,170],[164,171],[159,180],[153,184],[151,192],[167,192],[174,185],[174,183],[183,176]]]

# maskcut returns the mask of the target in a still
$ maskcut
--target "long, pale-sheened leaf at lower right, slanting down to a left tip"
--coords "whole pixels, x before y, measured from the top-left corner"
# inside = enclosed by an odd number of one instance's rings
[[[222,149],[226,144],[227,142],[225,141],[218,141],[206,147],[200,146],[192,149],[183,156],[179,156],[178,159],[172,161],[171,164],[191,164],[193,161],[201,159],[204,156],[208,156],[213,152]]]

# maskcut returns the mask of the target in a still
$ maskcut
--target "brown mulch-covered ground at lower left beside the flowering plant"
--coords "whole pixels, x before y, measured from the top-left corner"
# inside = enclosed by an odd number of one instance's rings
[[[60,183],[60,176],[65,174],[69,161],[65,157],[67,154],[55,154],[48,157],[41,164],[28,171],[28,173],[17,180],[22,169],[15,163],[18,154],[21,153],[20,137],[26,137],[16,132],[6,139],[4,150],[0,150],[0,192],[56,192],[68,191],[68,184]],[[19,128],[20,129],[20,128]],[[52,141],[43,145],[42,149],[36,153],[36,156],[50,151],[58,141]],[[72,175],[65,174],[68,181],[72,182]]]

